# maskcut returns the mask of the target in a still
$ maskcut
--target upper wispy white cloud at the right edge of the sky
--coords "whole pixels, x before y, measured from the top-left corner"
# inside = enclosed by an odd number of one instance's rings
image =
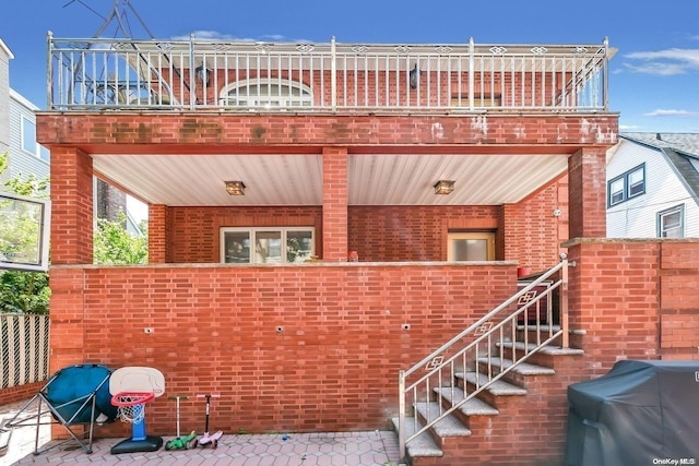
[[[699,71],[699,49],[670,48],[659,51],[637,51],[625,57],[635,60],[635,63],[640,61],[640,64],[624,64],[636,73],[667,76]]]

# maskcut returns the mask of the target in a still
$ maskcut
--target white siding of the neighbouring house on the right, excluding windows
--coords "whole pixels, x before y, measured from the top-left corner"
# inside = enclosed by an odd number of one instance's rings
[[[699,207],[662,152],[621,141],[607,163],[607,188],[608,181],[641,164],[645,165],[645,194],[607,207],[607,237],[657,238],[657,214],[683,203],[684,235],[699,237]]]

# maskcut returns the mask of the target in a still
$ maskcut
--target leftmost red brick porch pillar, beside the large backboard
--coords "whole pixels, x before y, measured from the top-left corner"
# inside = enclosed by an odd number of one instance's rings
[[[92,158],[51,147],[51,264],[93,263]]]

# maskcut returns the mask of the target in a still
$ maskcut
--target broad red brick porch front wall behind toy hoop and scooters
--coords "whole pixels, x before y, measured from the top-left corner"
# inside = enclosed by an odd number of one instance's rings
[[[51,371],[155,367],[167,394],[221,394],[212,421],[226,432],[384,428],[398,371],[510,296],[514,276],[514,264],[54,267]],[[191,401],[181,423],[202,416]],[[149,431],[174,429],[158,398]]]

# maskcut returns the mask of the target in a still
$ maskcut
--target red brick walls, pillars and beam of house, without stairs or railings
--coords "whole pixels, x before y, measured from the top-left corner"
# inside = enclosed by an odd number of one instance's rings
[[[499,406],[501,423],[474,420],[473,435],[454,441],[469,461],[560,462],[568,384],[601,375],[618,359],[697,358],[692,323],[699,301],[690,290],[699,243],[605,239],[605,153],[618,133],[618,116],[606,106],[216,111],[205,104],[216,101],[226,70],[212,71],[218,82],[199,89],[197,101],[181,81],[173,81],[170,97],[185,96],[190,107],[115,104],[119,111],[112,111],[100,103],[38,113],[39,141],[51,150],[54,370],[86,361],[155,367],[169,393],[221,394],[215,425],[225,432],[383,429],[398,410],[400,370],[511,296],[519,266],[545,270],[564,251],[577,265],[568,284],[570,344],[584,356],[558,363],[556,379],[538,384],[528,402]],[[533,75],[521,72],[510,81],[528,83]],[[565,77],[542,84],[544,93]],[[322,168],[320,179],[311,180],[322,188],[320,200],[152,202],[145,187],[139,192],[138,183],[123,186],[103,163],[133,155],[144,163],[165,156],[176,164],[182,155],[197,163],[208,154],[230,156],[232,163],[240,154],[311,155]],[[567,168],[517,202],[352,204],[353,164],[371,154],[485,155],[493,163],[536,155],[564,159]],[[150,202],[150,264],[92,264],[96,175]],[[244,181],[250,190],[264,182]],[[192,180],[178,189],[194,195],[194,186]],[[461,178],[458,188],[483,187]],[[287,226],[315,229],[318,262],[221,263],[221,228]],[[483,230],[495,234],[495,261],[448,261],[451,231]],[[347,262],[351,250],[358,263]],[[196,403],[185,402],[183,425],[197,422]],[[149,428],[171,433],[171,403],[156,399],[149,409]],[[464,459],[415,464],[453,461]]]

